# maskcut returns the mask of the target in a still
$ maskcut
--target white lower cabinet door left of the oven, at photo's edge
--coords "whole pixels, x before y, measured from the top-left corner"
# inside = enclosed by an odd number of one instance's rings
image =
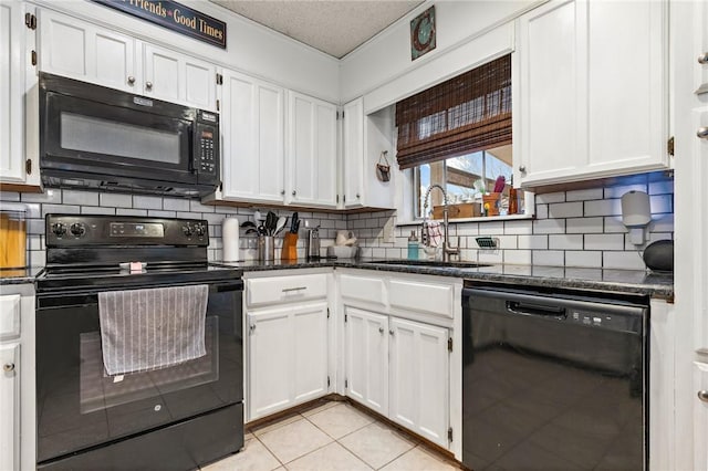
[[[0,421],[0,469],[20,469],[20,345],[0,345],[0,402],[4,409]],[[33,464],[32,464],[33,467]],[[28,464],[28,469],[30,465]]]

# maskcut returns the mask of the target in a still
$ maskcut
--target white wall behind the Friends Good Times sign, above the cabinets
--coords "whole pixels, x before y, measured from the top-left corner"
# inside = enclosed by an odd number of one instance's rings
[[[226,50],[84,0],[34,2],[296,92],[340,102],[336,59],[205,0],[181,0],[181,3],[227,23]]]

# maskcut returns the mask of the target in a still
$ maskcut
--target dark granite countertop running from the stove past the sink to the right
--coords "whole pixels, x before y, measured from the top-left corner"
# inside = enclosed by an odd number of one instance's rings
[[[388,264],[387,262],[394,262]],[[416,261],[412,261],[416,263]],[[425,263],[425,262],[423,262]],[[227,263],[244,272],[264,270],[289,270],[322,266],[342,266],[366,270],[379,270],[399,273],[454,276],[471,281],[517,283],[531,286],[566,287],[593,291],[613,291],[648,295],[656,299],[671,299],[674,295],[674,275],[659,274],[644,270],[602,270],[563,266],[490,264],[487,266],[467,266],[465,262],[455,265],[405,264],[403,260],[382,259],[304,259],[289,262],[248,261]]]

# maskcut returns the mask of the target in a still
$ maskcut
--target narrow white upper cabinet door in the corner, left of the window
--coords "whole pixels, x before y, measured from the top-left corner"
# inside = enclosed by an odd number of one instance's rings
[[[364,205],[364,101],[344,105],[342,191],[345,208]]]

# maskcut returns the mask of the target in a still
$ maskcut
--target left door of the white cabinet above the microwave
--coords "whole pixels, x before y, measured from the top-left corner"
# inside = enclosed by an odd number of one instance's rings
[[[142,93],[136,41],[49,10],[41,10],[40,70]]]

